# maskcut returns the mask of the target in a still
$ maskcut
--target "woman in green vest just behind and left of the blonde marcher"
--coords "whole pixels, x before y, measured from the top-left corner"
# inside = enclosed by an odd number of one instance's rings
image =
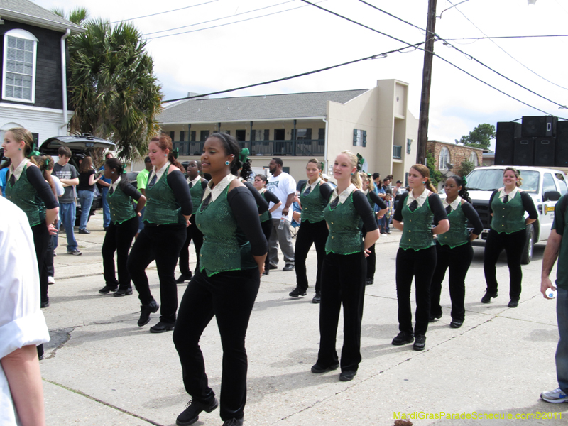
[[[294,261],[296,270],[296,288],[290,292],[290,297],[305,296],[308,287],[306,275],[307,253],[315,246],[317,254],[317,272],[315,275],[314,303],[322,300],[322,268],[325,256],[325,241],[327,241],[327,224],[324,219],[324,209],[327,206],[333,189],[321,178],[322,163],[316,158],[310,158],[306,165],[307,182],[300,188],[300,206],[302,207],[302,224],[296,235]]]

